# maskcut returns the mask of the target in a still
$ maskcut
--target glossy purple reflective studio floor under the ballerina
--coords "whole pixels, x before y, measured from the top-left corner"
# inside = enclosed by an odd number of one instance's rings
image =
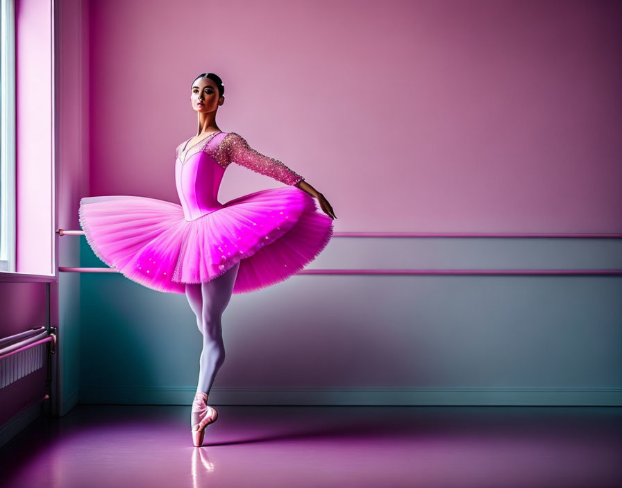
[[[77,406],[0,450],[0,485],[621,487],[622,408]]]

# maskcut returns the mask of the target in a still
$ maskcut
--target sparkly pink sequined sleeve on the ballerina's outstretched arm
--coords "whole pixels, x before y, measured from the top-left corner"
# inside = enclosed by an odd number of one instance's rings
[[[293,186],[304,180],[301,175],[277,159],[258,153],[249,146],[244,137],[235,132],[230,132],[224,137],[218,152],[220,153],[219,159],[226,159],[227,163],[237,163],[255,173],[269,176],[288,185]]]

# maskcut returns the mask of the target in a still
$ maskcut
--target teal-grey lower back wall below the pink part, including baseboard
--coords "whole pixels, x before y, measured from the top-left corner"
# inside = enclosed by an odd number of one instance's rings
[[[80,239],[81,265],[101,265]],[[534,268],[545,258],[550,268],[616,268],[621,245],[335,237],[312,268],[361,268],[361,260],[372,268],[395,267],[387,260],[413,268]],[[227,358],[210,398],[621,405],[621,296],[620,276],[297,275],[233,295],[223,315]],[[190,403],[200,353],[184,295],[117,273],[81,275],[81,401]]]

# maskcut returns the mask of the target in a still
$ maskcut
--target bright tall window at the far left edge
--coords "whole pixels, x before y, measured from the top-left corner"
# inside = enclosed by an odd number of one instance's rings
[[[15,271],[15,0],[0,4],[0,272]]]

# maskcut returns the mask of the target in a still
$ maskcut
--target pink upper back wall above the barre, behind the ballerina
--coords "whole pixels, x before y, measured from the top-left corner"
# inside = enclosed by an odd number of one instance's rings
[[[91,195],[178,202],[196,74],[335,231],[622,232],[622,3],[91,1]],[[238,171],[239,170],[239,171]],[[230,166],[221,202],[278,186]]]

